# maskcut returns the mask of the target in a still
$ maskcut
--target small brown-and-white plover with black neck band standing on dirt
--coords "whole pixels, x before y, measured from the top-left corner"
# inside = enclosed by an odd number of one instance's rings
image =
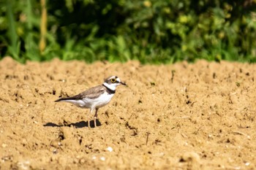
[[[94,127],[97,126],[97,112],[100,107],[104,107],[108,104],[116,93],[116,87],[118,85],[127,85],[125,82],[121,82],[121,80],[117,76],[110,76],[105,79],[102,85],[97,85],[93,88],[89,88],[88,90],[79,93],[78,95],[67,97],[67,98],[59,98],[57,101],[69,102],[71,104],[75,104],[77,107],[90,109],[90,113],[92,113],[95,109],[94,115]],[[90,126],[90,122],[88,120],[88,126]]]

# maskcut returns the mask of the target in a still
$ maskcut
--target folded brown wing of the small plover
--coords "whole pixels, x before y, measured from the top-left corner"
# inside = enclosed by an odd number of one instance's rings
[[[106,90],[105,86],[103,85],[98,85],[95,86],[94,88],[89,88],[88,90],[79,93],[78,95],[67,97],[67,98],[59,98],[56,101],[66,101],[66,100],[80,100],[82,98],[97,98],[99,97],[104,91]]]

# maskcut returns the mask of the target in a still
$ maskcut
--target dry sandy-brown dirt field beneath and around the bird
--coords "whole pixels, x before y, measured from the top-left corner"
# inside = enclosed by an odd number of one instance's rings
[[[129,86],[97,128],[89,109],[54,102],[110,75]],[[0,76],[0,169],[256,169],[255,64],[4,58]]]

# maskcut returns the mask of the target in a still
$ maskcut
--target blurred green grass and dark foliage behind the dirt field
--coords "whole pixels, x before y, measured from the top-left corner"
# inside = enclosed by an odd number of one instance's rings
[[[256,61],[256,0],[0,1],[0,58]]]

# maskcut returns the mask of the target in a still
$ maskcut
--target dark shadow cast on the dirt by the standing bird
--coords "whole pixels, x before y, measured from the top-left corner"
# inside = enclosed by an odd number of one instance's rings
[[[100,125],[102,125],[102,123],[100,123],[99,120],[96,120],[96,125],[100,126]],[[64,126],[71,127],[71,126],[74,126],[75,128],[89,127],[87,121],[80,121],[80,122],[77,122],[77,123],[67,123],[66,121],[64,121],[63,125],[57,125],[56,123],[49,122],[49,123],[45,123],[44,126],[45,127],[64,127]],[[90,126],[91,126],[91,128],[95,128],[94,127],[94,120],[90,121]]]

